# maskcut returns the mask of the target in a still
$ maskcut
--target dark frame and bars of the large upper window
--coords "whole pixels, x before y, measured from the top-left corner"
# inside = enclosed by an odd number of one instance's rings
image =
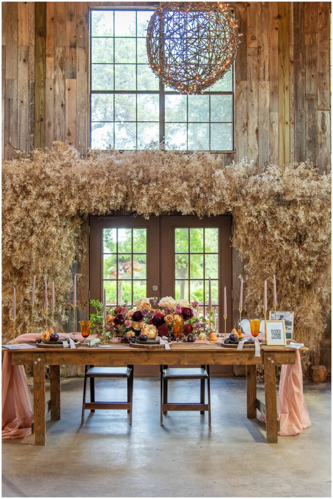
[[[91,22],[91,16],[93,11],[140,11],[140,10],[156,10],[157,4],[150,6],[147,5],[138,5],[138,6],[133,6],[133,8],[129,8],[129,6],[89,6],[89,73],[88,73],[88,86],[89,86],[89,148],[91,149],[91,136],[92,136],[92,121],[91,121],[91,115],[92,115],[92,95],[94,94],[99,94],[99,95],[122,95],[122,94],[130,94],[130,95],[158,95],[159,96],[159,148],[156,150],[159,151],[170,151],[173,149],[165,149],[165,147],[161,147],[161,143],[164,142],[165,140],[165,125],[166,125],[166,113],[165,113],[165,97],[166,95],[186,95],[186,94],[180,94],[176,90],[165,90],[165,85],[162,81],[159,81],[159,90],[92,90],[92,22]],[[230,7],[230,10],[234,12],[234,8]],[[115,39],[116,37],[113,36]],[[126,37],[124,37],[126,38]],[[131,38],[131,37],[129,37]],[[135,38],[137,39],[137,37]],[[112,65],[116,65],[118,63],[113,62]],[[120,63],[119,63],[120,64]],[[136,62],[132,63],[133,65],[137,66],[138,65],[138,54],[136,52]],[[114,74],[114,79],[115,79],[115,74]],[[200,94],[201,95],[201,94]],[[235,115],[235,62],[232,64],[232,90],[231,91],[209,91],[205,92],[202,95],[231,95],[232,96],[232,122],[212,122],[210,121],[210,98],[209,98],[209,121],[206,122],[196,122],[197,124],[208,124],[209,127],[209,147],[210,147],[210,125],[213,123],[216,124],[223,124],[223,123],[232,123],[232,148],[230,150],[210,150],[210,149],[174,149],[173,151],[176,153],[195,153],[195,152],[207,152],[211,154],[233,154],[236,152],[235,148],[235,128],[236,128],[236,115]],[[187,100],[188,102],[188,100]],[[136,121],[131,121],[129,123],[135,123],[136,124],[136,143],[138,145],[138,123],[141,123],[140,121],[138,122],[138,114],[137,114],[137,106],[136,106]],[[188,120],[188,104],[186,105],[186,119]],[[111,122],[110,122],[111,123]],[[113,123],[116,123],[113,121]],[[178,124],[178,123],[185,123],[186,124],[186,136],[187,136],[187,146],[188,146],[188,121],[186,122],[171,122],[172,124]],[[192,124],[192,122],[190,122]],[[193,122],[195,124],[195,122]],[[113,137],[114,137],[114,145],[115,145],[115,127],[113,129]],[[96,149],[101,150],[101,151],[107,151],[107,149]],[[144,149],[112,149],[112,151],[140,151]],[[154,149],[151,149],[154,150]]]

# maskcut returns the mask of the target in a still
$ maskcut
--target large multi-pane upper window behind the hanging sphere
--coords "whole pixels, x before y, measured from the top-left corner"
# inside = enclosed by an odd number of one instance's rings
[[[233,69],[202,95],[180,95],[151,70],[153,10],[92,9],[92,149],[233,150]]]

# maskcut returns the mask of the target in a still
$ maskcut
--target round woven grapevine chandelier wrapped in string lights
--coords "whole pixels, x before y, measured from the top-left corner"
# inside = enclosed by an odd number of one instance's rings
[[[221,2],[161,2],[147,30],[153,72],[187,94],[216,83],[232,65],[238,43],[237,23]]]

